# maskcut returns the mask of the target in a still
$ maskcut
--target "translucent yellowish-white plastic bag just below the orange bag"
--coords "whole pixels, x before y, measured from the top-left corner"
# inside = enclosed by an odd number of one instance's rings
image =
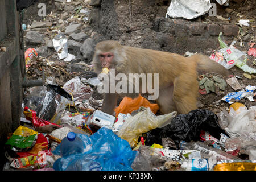
[[[122,139],[127,140],[129,144],[134,147],[136,145],[135,142],[138,141],[139,135],[142,135],[142,133],[146,133],[147,131],[157,127],[166,125],[166,123],[169,123],[172,118],[176,116],[176,114],[177,112],[174,111],[169,114],[156,116],[148,107],[146,110],[128,118],[119,129],[117,135]]]

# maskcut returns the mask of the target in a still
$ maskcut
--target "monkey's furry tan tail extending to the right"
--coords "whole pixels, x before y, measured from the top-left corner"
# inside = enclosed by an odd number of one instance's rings
[[[199,71],[204,71],[206,73],[214,72],[226,77],[230,77],[232,75],[228,69],[205,55],[195,54],[189,57],[189,59],[196,61],[197,69],[199,69]]]

